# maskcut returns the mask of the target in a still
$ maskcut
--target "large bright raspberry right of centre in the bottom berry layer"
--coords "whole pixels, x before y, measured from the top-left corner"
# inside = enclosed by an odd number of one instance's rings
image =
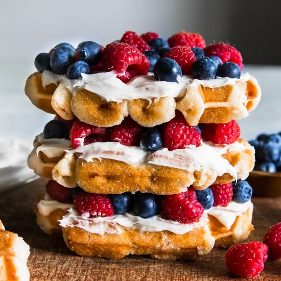
[[[189,190],[192,189],[192,192]],[[168,195],[163,200],[162,217],[179,223],[197,222],[204,212],[193,188],[179,194]]]

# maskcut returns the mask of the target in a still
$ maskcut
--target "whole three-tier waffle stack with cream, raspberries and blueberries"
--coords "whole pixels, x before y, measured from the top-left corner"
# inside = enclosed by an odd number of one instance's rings
[[[31,102],[56,114],[28,158],[49,179],[37,224],[80,255],[190,258],[253,229],[254,149],[235,120],[257,106],[259,84],[232,46],[204,51],[196,35],[200,48],[163,52],[168,42],[150,36],[59,44],[26,82]]]

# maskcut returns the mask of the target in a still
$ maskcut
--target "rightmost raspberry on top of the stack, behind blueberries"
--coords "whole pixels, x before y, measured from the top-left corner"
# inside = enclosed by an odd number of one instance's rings
[[[217,56],[222,60],[222,63],[226,61],[235,62],[240,66],[241,71],[243,71],[243,58],[241,53],[236,50],[234,47],[225,44],[225,43],[217,43],[213,45],[209,45],[204,49],[206,57],[209,56]]]

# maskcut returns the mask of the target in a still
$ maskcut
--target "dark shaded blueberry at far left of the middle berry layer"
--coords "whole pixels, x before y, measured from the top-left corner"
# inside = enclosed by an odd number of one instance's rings
[[[45,125],[43,135],[44,139],[69,138],[69,129],[63,121],[52,120]]]

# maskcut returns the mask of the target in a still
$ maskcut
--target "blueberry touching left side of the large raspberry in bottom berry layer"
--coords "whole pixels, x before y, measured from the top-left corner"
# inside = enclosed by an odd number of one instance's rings
[[[160,214],[162,205],[160,197],[150,193],[136,193],[134,195],[135,215],[147,219]]]

